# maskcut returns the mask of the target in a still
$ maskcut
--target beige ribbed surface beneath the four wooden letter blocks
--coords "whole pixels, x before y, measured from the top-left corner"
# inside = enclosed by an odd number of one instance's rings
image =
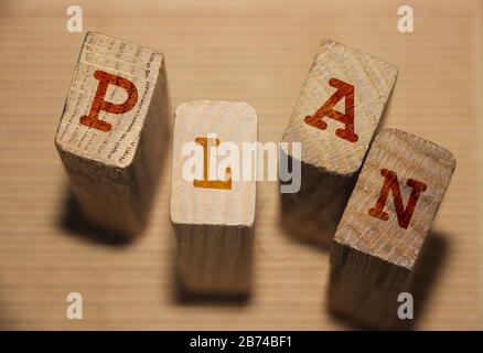
[[[65,31],[67,4],[0,4],[0,328],[346,328],[325,310],[328,254],[294,243],[279,226],[276,183],[258,184],[256,290],[248,306],[174,300],[169,159],[138,242],[96,244],[58,226],[66,175],[53,138],[84,36]],[[482,328],[480,1],[417,2],[411,34],[396,30],[399,1],[79,4],[85,30],[165,55],[173,106],[248,101],[259,114],[261,141],[280,140],[322,38],[397,64],[385,125],[438,142],[458,160],[434,222],[446,256],[419,327]],[[83,321],[65,318],[71,291],[84,296]]]

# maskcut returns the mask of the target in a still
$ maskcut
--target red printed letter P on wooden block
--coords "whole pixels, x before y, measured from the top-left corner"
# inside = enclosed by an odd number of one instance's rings
[[[104,110],[111,114],[124,114],[131,110],[138,101],[138,90],[136,89],[135,84],[129,79],[106,73],[104,71],[95,71],[94,78],[99,81],[96,96],[94,97],[89,115],[82,116],[80,124],[100,131],[108,132],[112,126],[107,121],[99,120],[99,113]],[[107,93],[107,87],[109,85],[115,85],[126,89],[128,98],[125,103],[114,104],[104,100]]]

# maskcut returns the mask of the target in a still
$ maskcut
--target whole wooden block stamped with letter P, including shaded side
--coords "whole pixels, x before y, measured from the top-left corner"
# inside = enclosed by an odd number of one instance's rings
[[[55,145],[89,222],[125,235],[142,231],[169,119],[163,55],[87,33]]]

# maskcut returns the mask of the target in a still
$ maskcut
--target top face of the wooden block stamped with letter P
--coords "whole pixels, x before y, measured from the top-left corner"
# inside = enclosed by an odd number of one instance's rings
[[[129,165],[162,62],[154,50],[87,33],[55,137],[57,148],[108,165]]]

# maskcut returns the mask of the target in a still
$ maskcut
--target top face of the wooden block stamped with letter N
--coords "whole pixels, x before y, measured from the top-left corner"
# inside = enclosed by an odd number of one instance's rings
[[[454,168],[447,149],[404,131],[383,130],[364,162],[335,242],[411,269]]]

